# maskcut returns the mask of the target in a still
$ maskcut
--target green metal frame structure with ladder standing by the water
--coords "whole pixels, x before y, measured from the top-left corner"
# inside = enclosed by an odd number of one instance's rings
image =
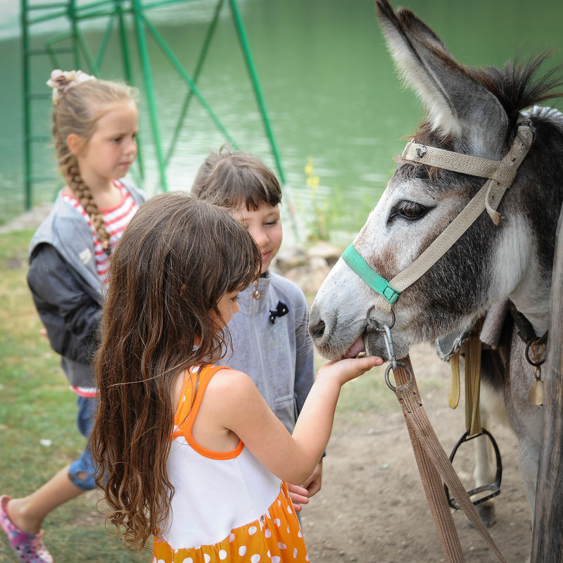
[[[182,129],[184,118],[189,108],[191,101],[196,98],[201,106],[208,114],[210,120],[213,121],[217,129],[221,132],[224,138],[232,144],[234,148],[238,148],[236,142],[231,134],[224,127],[222,122],[217,118],[209,103],[198,89],[197,81],[198,76],[205,63],[209,46],[215,33],[217,20],[224,4],[228,4],[232,13],[232,19],[236,28],[236,34],[239,38],[243,57],[246,62],[246,68],[250,76],[255,99],[258,103],[258,108],[262,116],[262,122],[265,127],[265,133],[270,141],[272,149],[272,156],[274,157],[279,179],[282,184],[285,184],[284,171],[281,167],[281,160],[277,150],[270,120],[267,115],[264,97],[258,82],[258,75],[255,70],[251,49],[248,44],[248,38],[244,29],[243,21],[239,11],[239,6],[236,0],[96,0],[87,3],[77,4],[76,0],[66,0],[60,2],[53,2],[50,4],[33,4],[30,0],[21,1],[21,24],[22,24],[22,39],[23,39],[23,94],[24,94],[24,166],[25,166],[25,209],[32,207],[33,199],[33,184],[34,182],[45,180],[46,178],[34,177],[32,173],[32,145],[42,142],[43,138],[39,135],[32,133],[32,104],[37,99],[49,98],[50,94],[38,94],[32,91],[32,58],[34,56],[49,56],[52,68],[64,68],[59,63],[60,56],[71,56],[74,68],[82,68],[91,74],[99,76],[99,68],[106,56],[108,42],[113,34],[117,33],[119,37],[119,44],[121,49],[121,58],[123,65],[123,77],[129,84],[135,84],[132,71],[132,53],[129,51],[129,44],[127,42],[127,35],[125,30],[125,18],[132,18],[134,21],[134,34],[137,39],[138,56],[141,67],[141,80],[143,82],[144,93],[146,94],[146,101],[148,106],[148,114],[151,124],[151,133],[153,137],[153,144],[156,151],[156,162],[158,163],[158,177],[160,187],[165,191],[167,190],[167,177],[166,168],[170,162],[170,158],[175,151],[179,132]],[[148,18],[148,13],[151,8],[166,6],[170,4],[186,4],[186,2],[213,2],[215,1],[215,10],[213,17],[208,25],[208,30],[205,34],[201,51],[197,58],[196,68],[192,76],[182,66],[179,59],[172,51],[170,46],[165,42],[162,35],[151,20]],[[56,20],[63,18],[65,23],[68,24],[68,32],[59,33],[54,37],[46,40],[44,48],[32,48],[32,30],[34,26],[48,22],[49,20]],[[92,18],[106,18],[107,23],[104,27],[101,42],[98,47],[97,53],[92,53],[84,33],[81,30],[80,24],[85,20]],[[104,20],[105,23],[105,20]],[[158,44],[160,50],[163,52],[167,60],[173,68],[175,68],[179,77],[186,84],[188,90],[182,104],[182,109],[179,113],[177,125],[175,126],[170,140],[170,145],[165,151],[163,141],[160,136],[160,127],[158,122],[158,107],[155,95],[153,80],[151,77],[151,60],[148,54],[148,38],[153,39]],[[82,58],[81,58],[82,57]],[[87,68],[84,68],[85,61]],[[138,163],[141,179],[144,177],[144,159],[143,151],[139,146]]]

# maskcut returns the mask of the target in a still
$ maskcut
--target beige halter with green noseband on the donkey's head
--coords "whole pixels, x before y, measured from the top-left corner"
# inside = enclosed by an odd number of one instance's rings
[[[412,139],[401,156],[402,160],[422,163],[429,166],[460,172],[471,176],[485,177],[488,180],[473,196],[471,201],[448,224],[424,252],[391,281],[375,272],[362,258],[362,255],[350,244],[342,258],[350,268],[362,278],[369,287],[379,293],[376,307],[384,312],[391,312],[399,294],[426,273],[453,246],[457,239],[467,231],[484,209],[495,224],[502,219],[497,208],[505,191],[510,188],[519,165],[529,151],[533,139],[530,125],[520,125],[516,138],[502,160],[488,160],[442,148],[415,143]],[[392,300],[392,301],[391,301]]]

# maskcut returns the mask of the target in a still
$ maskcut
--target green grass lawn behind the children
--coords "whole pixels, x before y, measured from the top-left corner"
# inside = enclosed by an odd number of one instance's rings
[[[26,495],[75,460],[84,439],[75,423],[76,399],[58,355],[40,333],[27,288],[27,245],[32,231],[0,234],[0,494]],[[318,364],[322,360],[317,359]],[[396,410],[381,368],[351,381],[341,393],[336,422],[362,412]],[[53,511],[44,540],[56,563],[151,562],[150,552],[129,552],[110,538],[92,491]],[[0,562],[15,562],[4,533]]]

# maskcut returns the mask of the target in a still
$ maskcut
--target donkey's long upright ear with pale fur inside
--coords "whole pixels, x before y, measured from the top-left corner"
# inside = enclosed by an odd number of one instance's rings
[[[469,143],[482,156],[496,153],[508,125],[498,99],[412,11],[393,11],[387,0],[376,0],[376,5],[391,56],[422,99],[432,129]]]

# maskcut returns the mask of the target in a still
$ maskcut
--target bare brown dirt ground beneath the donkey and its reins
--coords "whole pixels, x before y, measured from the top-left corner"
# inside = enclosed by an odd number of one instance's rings
[[[417,347],[411,358],[424,407],[449,453],[464,431],[463,405],[457,410],[448,407],[450,369],[430,346]],[[431,391],[425,386],[429,377]],[[436,381],[443,385],[436,388]],[[491,535],[508,562],[524,562],[529,557],[531,524],[517,469],[517,441],[509,429],[491,431],[504,469]],[[472,446],[464,448],[455,461],[466,468],[458,469],[462,481],[473,471]],[[360,424],[336,420],[324,460],[322,491],[302,514],[313,563],[445,560],[398,403],[391,415],[367,414]],[[456,512],[454,520],[467,563],[498,561],[462,512]]]

